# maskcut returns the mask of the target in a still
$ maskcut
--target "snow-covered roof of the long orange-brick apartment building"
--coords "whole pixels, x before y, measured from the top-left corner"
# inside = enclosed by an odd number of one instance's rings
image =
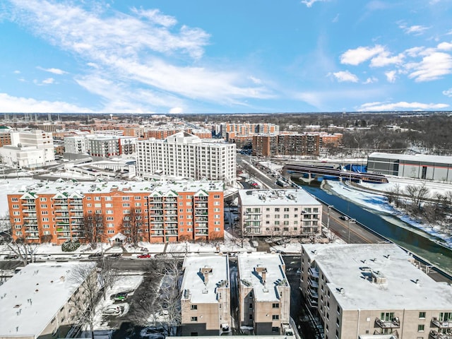
[[[95,162],[93,162],[95,164]],[[90,165],[90,164],[85,164]],[[29,186],[24,186],[19,191],[11,192],[11,194],[20,194],[25,192],[33,192],[34,194],[57,194],[58,192],[65,192],[67,194],[102,194],[117,190],[124,194],[143,193],[148,192],[152,194],[155,191],[165,194],[168,191],[177,192],[196,192],[203,189],[204,191],[223,191],[223,182],[219,181],[193,181],[193,180],[155,180],[145,182],[74,182],[69,179],[58,179],[55,182],[37,182]]]

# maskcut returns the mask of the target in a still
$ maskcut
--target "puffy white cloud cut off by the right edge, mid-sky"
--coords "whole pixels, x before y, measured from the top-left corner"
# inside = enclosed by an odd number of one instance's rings
[[[443,52],[432,52],[418,63],[406,65],[410,74],[416,82],[432,81],[452,73],[452,57]]]

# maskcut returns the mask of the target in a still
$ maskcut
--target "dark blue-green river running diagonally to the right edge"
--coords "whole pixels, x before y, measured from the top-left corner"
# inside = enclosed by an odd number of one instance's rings
[[[323,191],[319,186],[302,186],[313,196],[328,203],[328,205],[333,205],[335,209],[355,218],[363,225],[369,227],[369,229],[390,239],[391,242],[403,246],[405,249],[417,254],[417,256],[427,259],[433,265],[448,271],[448,273],[452,273],[452,250],[436,243],[431,235],[396,217],[388,218],[388,215],[382,215],[379,211],[370,212],[365,210],[352,201]]]

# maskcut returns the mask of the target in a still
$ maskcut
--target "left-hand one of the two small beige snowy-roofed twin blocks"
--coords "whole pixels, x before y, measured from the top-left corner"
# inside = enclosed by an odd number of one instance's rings
[[[182,267],[182,335],[221,335],[230,331],[230,270],[227,256],[186,256]]]

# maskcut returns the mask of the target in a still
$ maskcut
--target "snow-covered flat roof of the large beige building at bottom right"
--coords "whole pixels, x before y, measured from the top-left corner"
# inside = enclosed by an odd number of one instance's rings
[[[396,244],[307,244],[328,288],[345,310],[452,310],[452,287],[436,283],[413,265],[414,258]],[[386,283],[373,283],[374,274]]]

